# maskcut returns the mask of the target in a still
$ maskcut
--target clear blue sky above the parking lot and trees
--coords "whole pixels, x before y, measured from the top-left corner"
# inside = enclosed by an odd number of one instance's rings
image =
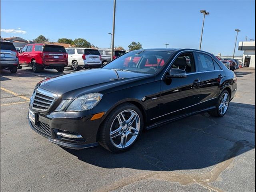
[[[128,48],[132,41],[143,48],[199,47],[206,16],[202,50],[232,55],[238,41],[255,38],[255,0],[116,0],[115,45]],[[32,40],[44,35],[85,38],[99,48],[110,46],[113,0],[1,0],[1,36]],[[14,33],[16,32],[16,33]],[[236,55],[242,52],[236,51]]]

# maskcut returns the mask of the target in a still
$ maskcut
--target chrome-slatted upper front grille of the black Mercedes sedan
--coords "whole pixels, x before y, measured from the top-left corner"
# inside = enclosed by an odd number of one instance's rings
[[[56,94],[38,88],[32,95],[32,108],[37,111],[48,112],[56,99]]]

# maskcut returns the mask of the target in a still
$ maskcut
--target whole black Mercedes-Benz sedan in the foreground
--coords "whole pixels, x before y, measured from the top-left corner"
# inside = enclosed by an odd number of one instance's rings
[[[128,150],[143,129],[208,112],[226,114],[236,75],[214,55],[192,49],[128,52],[99,69],[39,82],[31,128],[55,144]]]

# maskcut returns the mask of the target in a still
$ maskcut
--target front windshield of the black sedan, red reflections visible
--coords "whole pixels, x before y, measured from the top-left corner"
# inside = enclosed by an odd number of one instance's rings
[[[132,51],[116,58],[103,68],[156,74],[166,65],[172,53],[151,50]]]

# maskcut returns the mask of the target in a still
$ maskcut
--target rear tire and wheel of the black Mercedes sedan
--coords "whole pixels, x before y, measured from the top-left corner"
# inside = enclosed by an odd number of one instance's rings
[[[223,117],[228,111],[229,102],[230,95],[228,91],[222,91],[216,103],[216,109],[208,112],[208,114],[215,117]]]

